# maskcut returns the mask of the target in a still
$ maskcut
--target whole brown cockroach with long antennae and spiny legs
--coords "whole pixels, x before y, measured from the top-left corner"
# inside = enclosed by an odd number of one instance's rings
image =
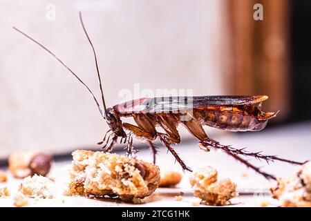
[[[97,64],[97,55],[92,41],[86,32],[81,12],[79,12],[79,20],[93,50],[97,78],[99,80],[102,95],[102,106],[97,101],[91,89],[88,88],[84,81],[82,81],[73,70],[68,68],[61,59],[32,37],[26,35],[15,27],[13,28],[55,57],[55,59],[67,68],[69,72],[88,90],[88,92],[91,93],[100,114],[104,120],[106,120],[110,128],[104,135],[102,142],[97,143],[99,145],[104,144],[102,147],[104,151],[112,151],[113,145],[117,143],[117,139],[120,137],[121,143],[123,139],[124,144],[127,141],[126,155],[135,157],[132,137],[132,135],[135,135],[135,137],[145,140],[149,144],[153,151],[153,162],[156,163],[157,147],[153,144],[153,141],[158,139],[176,158],[176,161],[182,166],[183,170],[191,171],[172,147],[172,144],[180,143],[180,135],[177,126],[178,124],[182,124],[187,128],[191,135],[199,140],[198,144],[202,150],[209,151],[210,148],[220,149],[234,157],[234,159],[245,164],[250,169],[260,173],[268,180],[276,180],[276,177],[261,171],[260,168],[250,164],[247,160],[241,157],[241,155],[254,157],[258,160],[262,159],[268,163],[270,161],[278,160],[290,164],[303,164],[301,162],[285,160],[276,155],[263,155],[261,152],[252,153],[246,151],[245,148],[233,148],[232,146],[220,144],[209,138],[203,130],[202,126],[206,125],[225,131],[261,131],[267,125],[268,119],[276,117],[277,115],[277,113],[265,113],[261,111],[261,103],[268,99],[266,95],[140,98],[117,104],[112,108],[106,108],[100,70]],[[137,125],[122,122],[122,117],[133,117]],[[156,127],[162,128],[164,133],[158,132]],[[126,133],[125,131],[129,131],[129,133]],[[110,134],[106,137],[108,133]]]

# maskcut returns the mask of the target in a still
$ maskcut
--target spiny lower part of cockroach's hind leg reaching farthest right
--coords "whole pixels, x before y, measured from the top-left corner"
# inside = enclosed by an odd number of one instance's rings
[[[255,157],[258,160],[263,159],[267,162],[267,164],[269,164],[269,162],[273,162],[274,160],[278,160],[281,162],[288,162],[290,164],[297,164],[297,165],[303,164],[301,162],[286,160],[286,159],[283,159],[281,157],[277,157],[275,155],[263,155],[263,154],[261,154],[261,152],[252,153],[249,151],[245,151],[244,148],[240,148],[240,149],[233,148],[232,146],[229,146],[229,145],[220,144],[219,142],[216,142],[215,140],[212,140],[210,138],[206,138],[204,141],[200,142],[199,146],[211,146],[214,148],[219,148],[219,149],[221,149],[225,152],[228,152],[228,153],[234,153],[236,155],[245,155],[245,156],[249,156],[249,157]]]

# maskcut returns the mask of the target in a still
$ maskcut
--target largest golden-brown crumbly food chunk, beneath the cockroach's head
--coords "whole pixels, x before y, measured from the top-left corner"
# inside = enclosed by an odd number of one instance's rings
[[[74,151],[65,195],[118,196],[137,202],[151,195],[160,183],[155,164],[102,151]]]

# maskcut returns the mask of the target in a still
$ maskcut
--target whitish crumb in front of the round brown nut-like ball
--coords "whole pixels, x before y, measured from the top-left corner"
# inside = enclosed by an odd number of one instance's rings
[[[19,184],[19,192],[30,198],[54,198],[56,195],[56,187],[53,181],[41,175],[33,175],[26,177]]]

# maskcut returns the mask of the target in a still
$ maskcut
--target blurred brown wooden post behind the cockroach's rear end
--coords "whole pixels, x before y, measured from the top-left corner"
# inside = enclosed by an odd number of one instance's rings
[[[268,95],[269,111],[289,114],[288,0],[228,0],[232,75],[230,93]],[[253,18],[254,4],[263,5],[263,21]]]

